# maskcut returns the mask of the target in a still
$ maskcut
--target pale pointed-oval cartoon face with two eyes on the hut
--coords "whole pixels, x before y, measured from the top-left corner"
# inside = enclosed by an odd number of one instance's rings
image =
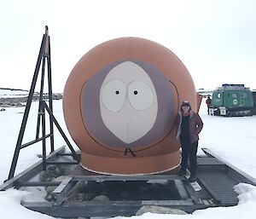
[[[119,140],[130,144],[146,135],[158,110],[147,72],[131,61],[111,69],[102,83],[100,108],[103,123]]]

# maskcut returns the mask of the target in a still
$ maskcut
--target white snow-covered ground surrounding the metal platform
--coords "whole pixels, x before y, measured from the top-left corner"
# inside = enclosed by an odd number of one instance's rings
[[[1,94],[0,94],[1,95]],[[17,136],[20,130],[22,112],[25,107],[6,108],[6,111],[0,112],[0,183],[7,179],[9,166],[15,150]],[[37,117],[38,103],[32,102],[32,112],[28,119],[27,129],[24,136],[24,141],[30,141],[35,138],[35,126]],[[64,122],[61,101],[54,101],[54,113],[62,129],[67,133],[66,124]],[[248,175],[256,178],[256,133],[255,124],[256,116],[246,118],[221,118],[207,115],[207,107],[205,99],[202,101],[200,115],[204,122],[204,128],[200,135],[200,147],[207,147],[219,157],[224,158],[230,164],[243,170]],[[57,130],[55,130],[57,134]],[[72,141],[72,139],[69,137]],[[72,141],[73,142],[73,141]],[[55,135],[55,145],[61,147],[65,144],[61,135]],[[74,144],[73,144],[74,145]],[[41,154],[41,144],[38,143],[31,147],[21,150],[18,162],[18,168],[15,174],[25,170],[31,164],[38,161],[36,154]],[[202,151],[199,149],[199,154]],[[146,213],[143,216],[132,216],[136,219],[216,219],[227,218],[256,218],[256,187],[247,184],[238,184],[235,187],[238,193],[239,205],[233,207],[218,207],[207,210],[195,210],[192,215],[176,216],[176,215],[155,215]],[[0,218],[20,219],[28,218],[52,218],[45,216],[32,210],[26,210],[20,205],[20,200],[29,195],[24,191],[16,191],[9,189],[5,192],[0,192]],[[118,217],[123,218],[123,217]]]

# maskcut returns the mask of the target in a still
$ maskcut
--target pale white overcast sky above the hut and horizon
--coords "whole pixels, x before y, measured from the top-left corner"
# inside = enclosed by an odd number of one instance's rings
[[[196,89],[256,89],[256,1],[0,0],[0,87],[29,89],[49,26],[53,90],[79,59],[116,37],[144,37],[183,61]]]

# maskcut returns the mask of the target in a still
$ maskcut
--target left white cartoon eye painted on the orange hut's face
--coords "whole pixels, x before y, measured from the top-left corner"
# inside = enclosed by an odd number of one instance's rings
[[[119,80],[110,81],[102,88],[101,96],[108,110],[119,112],[125,103],[125,84]]]

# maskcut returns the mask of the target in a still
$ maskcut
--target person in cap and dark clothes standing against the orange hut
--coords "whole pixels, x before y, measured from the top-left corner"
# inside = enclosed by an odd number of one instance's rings
[[[202,130],[203,122],[198,113],[191,110],[189,101],[183,101],[180,112],[177,116],[179,137],[182,147],[182,162],[178,176],[185,176],[188,167],[188,158],[190,162],[189,181],[194,182],[196,179],[197,160],[196,153],[199,141],[199,133]]]

